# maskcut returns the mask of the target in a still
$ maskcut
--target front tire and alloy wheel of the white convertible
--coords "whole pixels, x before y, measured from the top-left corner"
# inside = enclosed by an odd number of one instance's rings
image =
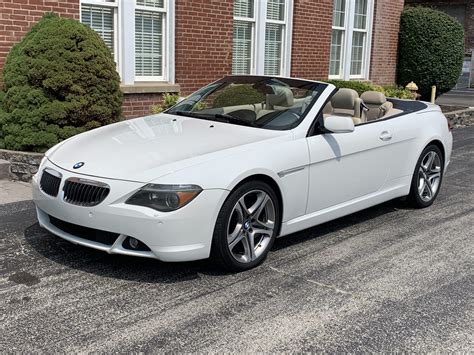
[[[275,191],[262,181],[242,184],[231,192],[217,217],[212,261],[232,272],[254,268],[272,248],[279,222]]]

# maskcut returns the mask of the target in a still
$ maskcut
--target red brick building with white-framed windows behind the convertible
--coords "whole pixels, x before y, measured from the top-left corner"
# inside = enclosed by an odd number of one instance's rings
[[[110,47],[124,115],[163,92],[226,74],[395,82],[404,0],[0,0],[0,70],[44,12],[82,21]]]

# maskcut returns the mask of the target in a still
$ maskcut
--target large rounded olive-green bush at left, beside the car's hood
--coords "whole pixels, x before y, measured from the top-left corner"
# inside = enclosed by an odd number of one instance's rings
[[[47,14],[10,51],[0,95],[0,148],[42,152],[121,116],[109,48],[86,25]]]

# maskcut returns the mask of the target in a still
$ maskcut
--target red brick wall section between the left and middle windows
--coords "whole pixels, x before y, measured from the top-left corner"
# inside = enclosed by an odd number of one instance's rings
[[[232,73],[233,0],[176,2],[176,82],[189,94]]]

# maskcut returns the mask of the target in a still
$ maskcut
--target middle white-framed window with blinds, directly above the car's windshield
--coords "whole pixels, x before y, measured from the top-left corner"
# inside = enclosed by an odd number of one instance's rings
[[[234,0],[233,74],[289,75],[292,0]]]

